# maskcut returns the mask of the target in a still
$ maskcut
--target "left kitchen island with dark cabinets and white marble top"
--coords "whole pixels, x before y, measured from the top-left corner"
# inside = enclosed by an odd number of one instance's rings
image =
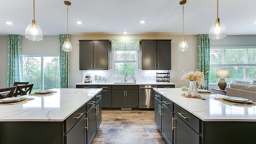
[[[56,93],[26,95],[34,100],[0,105],[0,144],[86,144],[92,141],[97,116],[101,122],[101,107],[96,101],[101,100],[102,89],[52,90]],[[90,136],[86,136],[88,133]]]

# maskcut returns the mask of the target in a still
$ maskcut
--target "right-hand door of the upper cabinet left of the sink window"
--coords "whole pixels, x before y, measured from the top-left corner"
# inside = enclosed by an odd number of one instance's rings
[[[94,69],[108,70],[108,41],[94,41]]]

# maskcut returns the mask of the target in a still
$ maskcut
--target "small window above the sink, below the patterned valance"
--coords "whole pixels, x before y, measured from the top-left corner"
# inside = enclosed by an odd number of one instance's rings
[[[131,76],[136,74],[137,51],[113,51],[114,76],[124,76],[124,72]]]

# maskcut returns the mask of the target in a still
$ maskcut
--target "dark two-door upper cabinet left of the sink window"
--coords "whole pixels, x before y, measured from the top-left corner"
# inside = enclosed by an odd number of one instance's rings
[[[79,40],[79,69],[108,70],[109,40]]]

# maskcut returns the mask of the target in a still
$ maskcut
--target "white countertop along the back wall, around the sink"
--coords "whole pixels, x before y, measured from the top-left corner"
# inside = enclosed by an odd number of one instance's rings
[[[118,83],[115,84],[114,82],[92,82],[92,83],[84,83],[84,82],[79,82],[76,85],[176,85],[172,82],[136,82],[134,83]]]

